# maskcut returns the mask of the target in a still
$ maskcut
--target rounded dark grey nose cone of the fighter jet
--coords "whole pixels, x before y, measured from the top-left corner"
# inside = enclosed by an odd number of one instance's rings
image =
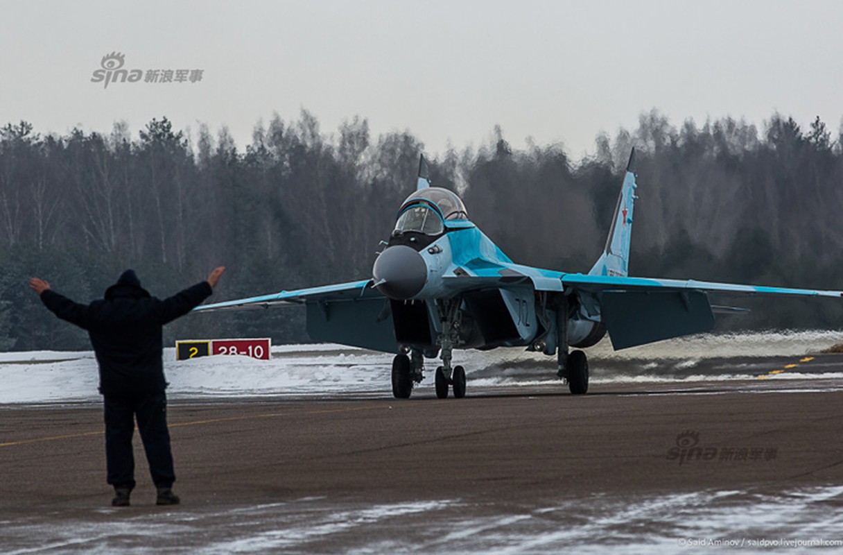
[[[390,299],[411,299],[427,281],[427,264],[406,245],[394,245],[380,253],[372,268],[374,286]]]

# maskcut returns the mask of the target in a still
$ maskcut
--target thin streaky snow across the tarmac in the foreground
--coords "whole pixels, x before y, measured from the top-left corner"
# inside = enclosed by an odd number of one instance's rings
[[[699,542],[741,552],[790,547],[781,542],[840,542],[843,487],[767,493],[761,489],[666,495],[561,498],[547,504],[499,505],[459,499],[365,504],[330,498],[230,506],[77,510],[3,524],[5,552],[148,552],[152,537],[172,538],[171,553],[625,553],[685,552]],[[237,525],[221,525],[236,517]],[[843,543],[843,542],[840,542]],[[835,545],[817,545],[820,552]],[[160,544],[158,544],[160,545]],[[822,549],[824,547],[825,549]],[[799,552],[799,550],[796,550]]]

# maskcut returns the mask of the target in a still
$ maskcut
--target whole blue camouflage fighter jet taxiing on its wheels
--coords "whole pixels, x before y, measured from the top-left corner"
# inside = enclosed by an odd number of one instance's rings
[[[572,394],[588,391],[588,358],[579,350],[607,333],[630,348],[709,331],[709,294],[840,298],[843,292],[736,283],[629,277],[636,202],[635,150],[620,187],[604,251],[586,273],[518,264],[469,219],[462,200],[432,186],[423,155],[414,191],[374,261],[372,276],[351,283],[282,291],[207,304],[196,311],[304,305],[307,331],[336,342],[395,353],[392,392],[409,398],[426,358],[438,358],[439,398],[465,396],[455,349],[526,347],[556,355],[556,374]],[[577,350],[571,350],[576,348]]]

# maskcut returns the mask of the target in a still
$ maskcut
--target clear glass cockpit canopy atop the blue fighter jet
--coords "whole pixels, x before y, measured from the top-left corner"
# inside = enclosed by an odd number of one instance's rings
[[[420,189],[401,205],[393,234],[416,231],[438,235],[444,231],[444,221],[466,219],[465,205],[453,192],[441,187]]]

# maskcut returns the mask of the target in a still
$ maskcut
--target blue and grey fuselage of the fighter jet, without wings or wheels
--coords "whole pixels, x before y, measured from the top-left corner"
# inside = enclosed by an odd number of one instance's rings
[[[549,299],[563,294],[564,275],[513,262],[467,218],[459,197],[435,187],[404,202],[373,266],[374,286],[392,299],[396,339],[425,350],[435,347],[443,306],[452,302],[459,304],[460,347],[539,347],[553,336]],[[571,344],[593,344],[604,330],[576,309],[567,322]]]

